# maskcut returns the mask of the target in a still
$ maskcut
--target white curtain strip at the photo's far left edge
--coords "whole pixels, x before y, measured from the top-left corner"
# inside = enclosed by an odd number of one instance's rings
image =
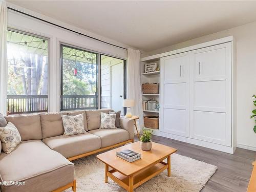
[[[0,113],[6,115],[7,96],[7,6],[0,1]]]

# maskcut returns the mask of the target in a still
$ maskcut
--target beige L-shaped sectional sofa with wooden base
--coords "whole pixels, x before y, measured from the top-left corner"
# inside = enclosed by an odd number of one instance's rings
[[[99,129],[100,112],[109,111],[113,110],[6,116],[17,127],[22,143],[10,154],[0,154],[1,191],[62,191],[69,187],[75,191],[72,160],[133,142],[133,120],[120,119],[118,129]],[[61,114],[82,113],[87,133],[63,136]]]

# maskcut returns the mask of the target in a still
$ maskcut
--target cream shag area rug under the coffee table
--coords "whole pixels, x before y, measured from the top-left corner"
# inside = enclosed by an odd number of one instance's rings
[[[105,165],[92,155],[73,161],[75,164],[75,178],[77,192],[83,191],[126,191],[109,178],[104,183]],[[171,156],[171,176],[167,177],[167,169],[151,180],[143,183],[134,191],[168,191],[168,192],[194,192],[200,191],[216,172],[217,166],[191,159],[179,154]],[[72,191],[71,189],[65,192]]]

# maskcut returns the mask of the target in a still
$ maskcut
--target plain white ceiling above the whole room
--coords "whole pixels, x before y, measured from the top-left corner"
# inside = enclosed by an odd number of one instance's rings
[[[256,1],[10,1],[152,51],[256,20]]]

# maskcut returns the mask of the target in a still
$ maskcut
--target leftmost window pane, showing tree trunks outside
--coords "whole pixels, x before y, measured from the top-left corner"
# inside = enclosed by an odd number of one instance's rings
[[[48,39],[8,30],[7,115],[47,112]]]

